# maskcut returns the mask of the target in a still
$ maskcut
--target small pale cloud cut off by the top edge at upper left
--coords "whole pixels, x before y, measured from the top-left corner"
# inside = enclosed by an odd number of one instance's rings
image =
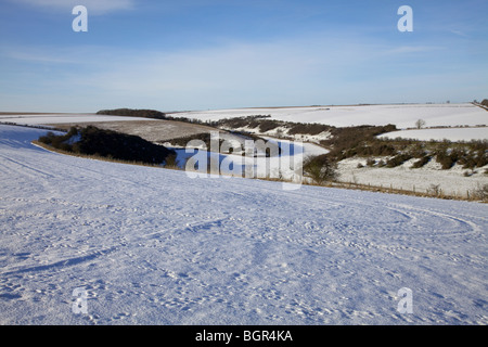
[[[66,10],[76,5],[84,5],[90,14],[104,14],[111,11],[131,10],[134,0],[11,0],[15,3],[24,3],[36,8]]]

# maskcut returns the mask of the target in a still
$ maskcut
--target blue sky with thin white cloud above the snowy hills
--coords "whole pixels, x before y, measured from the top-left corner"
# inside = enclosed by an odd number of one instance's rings
[[[88,31],[75,33],[75,5]],[[413,31],[400,33],[401,5]],[[488,98],[488,1],[0,0],[0,111]]]

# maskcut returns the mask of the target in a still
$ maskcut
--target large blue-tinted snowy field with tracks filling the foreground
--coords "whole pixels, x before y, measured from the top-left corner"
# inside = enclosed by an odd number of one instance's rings
[[[488,323],[487,205],[190,179],[43,132],[0,126],[1,324]]]

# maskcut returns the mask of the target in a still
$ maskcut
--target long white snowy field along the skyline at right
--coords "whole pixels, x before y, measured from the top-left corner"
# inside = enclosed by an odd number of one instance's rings
[[[172,114],[175,117],[201,120],[252,115],[271,115],[280,120],[319,123],[334,127],[394,124],[402,129],[414,127],[418,119],[424,119],[427,127],[488,125],[488,112],[470,103],[234,108]]]

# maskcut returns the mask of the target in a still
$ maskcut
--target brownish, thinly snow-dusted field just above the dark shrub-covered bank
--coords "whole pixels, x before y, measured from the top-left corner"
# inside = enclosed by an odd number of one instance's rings
[[[151,142],[164,142],[170,139],[184,138],[202,132],[217,131],[216,128],[204,125],[159,119],[97,121],[97,123],[66,123],[55,124],[56,128],[68,130],[75,126],[94,126],[99,129],[114,130],[134,134]]]

